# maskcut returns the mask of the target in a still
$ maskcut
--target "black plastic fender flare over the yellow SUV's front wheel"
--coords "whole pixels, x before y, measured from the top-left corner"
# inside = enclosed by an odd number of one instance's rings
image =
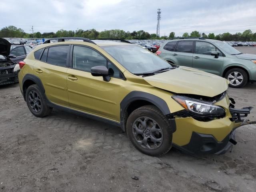
[[[127,110],[128,106],[136,100],[145,100],[145,101],[151,102],[156,107],[158,107],[164,115],[168,115],[171,113],[168,105],[162,98],[155,96],[153,94],[147,93],[147,92],[132,91],[129,94],[127,94],[120,103],[120,125],[121,125],[121,128],[123,131],[126,130],[126,125],[124,122],[126,110]],[[175,120],[171,119],[170,122],[174,128],[173,132],[176,131]]]

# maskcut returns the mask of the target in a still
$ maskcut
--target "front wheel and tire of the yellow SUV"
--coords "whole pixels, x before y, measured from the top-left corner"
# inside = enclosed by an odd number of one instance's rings
[[[134,110],[128,117],[126,130],[132,144],[144,154],[162,156],[172,148],[172,127],[156,106]]]

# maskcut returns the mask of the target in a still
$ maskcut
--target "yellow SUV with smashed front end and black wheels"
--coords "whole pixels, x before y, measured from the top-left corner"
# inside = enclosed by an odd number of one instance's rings
[[[49,39],[19,64],[32,114],[58,108],[120,126],[152,156],[172,146],[223,154],[236,144],[235,129],[251,123],[241,119],[251,107],[235,109],[228,97],[228,80],[169,64],[125,40]]]

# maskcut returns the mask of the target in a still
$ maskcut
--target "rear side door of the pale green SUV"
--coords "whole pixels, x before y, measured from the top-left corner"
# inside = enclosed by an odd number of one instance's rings
[[[192,67],[193,63],[193,41],[178,41],[171,59],[176,65]]]

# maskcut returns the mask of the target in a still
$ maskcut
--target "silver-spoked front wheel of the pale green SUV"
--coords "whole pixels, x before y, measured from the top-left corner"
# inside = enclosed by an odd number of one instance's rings
[[[229,86],[233,88],[241,88],[248,82],[248,75],[241,68],[232,68],[228,70],[225,74],[225,78],[229,80]]]

